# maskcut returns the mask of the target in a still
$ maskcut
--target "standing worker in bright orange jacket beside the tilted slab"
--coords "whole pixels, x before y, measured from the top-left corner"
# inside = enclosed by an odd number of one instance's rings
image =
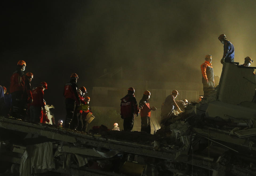
[[[215,82],[213,74],[212,55],[205,56],[205,62],[201,65],[202,71],[202,83],[203,83],[203,95],[207,96],[210,91],[213,91]]]

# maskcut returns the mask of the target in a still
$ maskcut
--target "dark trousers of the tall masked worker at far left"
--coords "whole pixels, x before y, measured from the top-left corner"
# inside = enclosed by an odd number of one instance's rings
[[[19,118],[21,109],[21,97],[22,91],[15,91],[11,93],[12,104],[11,104],[11,116]]]

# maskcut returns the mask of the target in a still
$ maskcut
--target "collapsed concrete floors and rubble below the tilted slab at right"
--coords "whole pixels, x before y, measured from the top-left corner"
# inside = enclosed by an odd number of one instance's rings
[[[255,128],[249,137],[239,138],[230,135],[233,127],[216,119],[193,113],[176,118],[150,135],[137,131],[86,134],[1,117],[1,173],[256,175]]]

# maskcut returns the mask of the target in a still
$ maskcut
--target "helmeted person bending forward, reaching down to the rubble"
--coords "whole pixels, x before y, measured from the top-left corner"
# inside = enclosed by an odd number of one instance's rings
[[[177,111],[181,113],[181,109],[175,102],[175,98],[179,95],[177,90],[173,90],[171,95],[168,95],[165,98],[165,102],[163,102],[161,107],[161,126],[166,122],[166,120],[170,117],[171,113],[173,112],[174,107],[177,108]]]

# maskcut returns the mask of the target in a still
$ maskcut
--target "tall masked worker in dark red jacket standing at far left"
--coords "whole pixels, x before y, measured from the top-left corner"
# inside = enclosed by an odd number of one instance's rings
[[[21,99],[25,90],[25,61],[18,61],[16,71],[11,76],[10,93],[12,98],[11,115],[13,118],[19,118],[21,109]]]

